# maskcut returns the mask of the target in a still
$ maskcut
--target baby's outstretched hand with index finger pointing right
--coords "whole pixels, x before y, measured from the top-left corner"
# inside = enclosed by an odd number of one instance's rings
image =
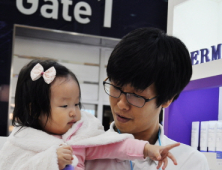
[[[157,146],[157,145],[146,144],[144,147],[143,154],[144,154],[144,157],[149,157],[150,159],[152,159],[154,161],[159,161],[157,169],[159,169],[163,164],[162,169],[164,170],[168,164],[167,157],[169,157],[173,161],[174,165],[177,165],[176,159],[169,152],[169,150],[171,150],[179,145],[180,145],[180,143],[175,143],[175,144],[166,145],[166,146]]]

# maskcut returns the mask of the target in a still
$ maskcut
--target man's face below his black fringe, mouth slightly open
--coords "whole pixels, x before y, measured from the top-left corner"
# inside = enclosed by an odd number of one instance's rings
[[[111,82],[111,84],[115,85]],[[121,88],[124,92],[135,93],[147,99],[156,96],[154,84],[144,91],[136,91],[130,84]],[[119,98],[109,97],[110,106],[115,121],[115,126],[122,133],[140,134],[151,133],[150,129],[159,127],[159,113],[161,106],[157,108],[156,99],[146,102],[142,108],[129,104],[126,96],[121,94]]]

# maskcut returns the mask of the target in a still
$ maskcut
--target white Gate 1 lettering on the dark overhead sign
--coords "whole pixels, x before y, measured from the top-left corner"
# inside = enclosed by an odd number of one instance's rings
[[[27,0],[31,7],[26,8],[23,5],[24,0],[16,0],[16,7],[25,15],[32,15],[37,12],[39,8],[39,0]],[[65,21],[72,21],[72,17],[69,16],[69,7],[73,5],[72,0],[62,0],[61,4],[58,0],[45,0],[50,1],[52,4],[44,4],[41,6],[41,15],[45,18],[52,18],[57,20],[59,15],[59,8],[62,8],[62,17]],[[113,0],[105,0],[105,13],[104,13],[104,27],[111,27],[112,17],[112,3]],[[78,2],[75,4],[73,10],[74,18],[81,24],[88,24],[90,22],[90,16],[92,15],[92,8],[87,2]]]

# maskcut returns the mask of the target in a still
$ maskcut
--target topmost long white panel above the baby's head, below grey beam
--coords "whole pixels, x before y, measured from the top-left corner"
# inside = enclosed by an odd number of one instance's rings
[[[14,54],[99,64],[99,48],[58,41],[16,37]]]

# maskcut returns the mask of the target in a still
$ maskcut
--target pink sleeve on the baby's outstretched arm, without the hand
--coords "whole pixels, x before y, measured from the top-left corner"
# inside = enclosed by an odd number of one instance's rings
[[[93,159],[143,159],[143,150],[147,141],[126,139],[122,142],[86,148],[86,160]]]

